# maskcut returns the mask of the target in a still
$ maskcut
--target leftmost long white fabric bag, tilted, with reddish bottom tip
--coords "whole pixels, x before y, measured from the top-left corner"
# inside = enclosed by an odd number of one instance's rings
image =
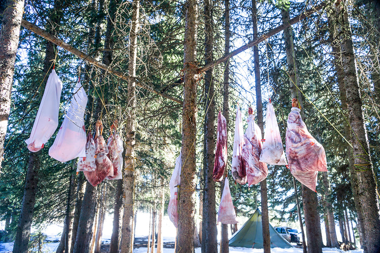
[[[37,152],[42,149],[57,129],[61,91],[62,82],[53,69],[46,83],[30,137],[25,140],[29,151]]]

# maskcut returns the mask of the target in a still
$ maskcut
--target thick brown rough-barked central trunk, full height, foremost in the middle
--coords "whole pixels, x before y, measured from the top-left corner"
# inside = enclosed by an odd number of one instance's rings
[[[196,132],[197,132],[197,29],[198,1],[185,3],[184,92],[182,112],[182,172],[178,192],[178,240],[176,253],[194,252],[194,214],[196,189]]]

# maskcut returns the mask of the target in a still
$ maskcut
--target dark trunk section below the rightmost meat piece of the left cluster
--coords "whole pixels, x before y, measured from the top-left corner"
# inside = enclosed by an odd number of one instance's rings
[[[113,228],[111,241],[109,245],[109,253],[118,253],[119,250],[119,235],[120,235],[120,224],[123,217],[123,180],[118,180],[118,185],[116,187],[116,197],[115,197],[115,209],[113,211]]]

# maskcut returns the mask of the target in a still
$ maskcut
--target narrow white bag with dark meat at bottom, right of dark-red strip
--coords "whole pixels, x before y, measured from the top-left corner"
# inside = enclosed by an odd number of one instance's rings
[[[234,137],[234,149],[232,153],[232,177],[236,182],[241,185],[247,183],[247,173],[245,171],[245,164],[242,156],[242,149],[244,145],[244,132],[242,113],[240,108],[236,110],[235,121],[235,137]]]

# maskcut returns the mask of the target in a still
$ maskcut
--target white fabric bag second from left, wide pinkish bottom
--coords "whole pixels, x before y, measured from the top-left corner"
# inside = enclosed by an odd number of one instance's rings
[[[86,92],[81,86],[81,82],[78,82],[65,119],[59,128],[53,146],[49,149],[49,155],[54,159],[66,162],[75,157],[86,156],[87,138],[84,123],[86,104]]]

